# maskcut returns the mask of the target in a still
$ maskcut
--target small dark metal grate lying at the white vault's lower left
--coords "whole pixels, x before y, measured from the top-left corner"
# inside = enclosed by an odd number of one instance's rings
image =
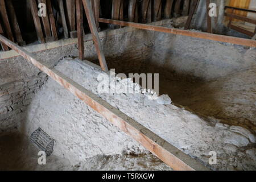
[[[31,134],[30,141],[34,146],[39,148],[39,150],[46,152],[47,156],[52,154],[54,140],[40,127]]]

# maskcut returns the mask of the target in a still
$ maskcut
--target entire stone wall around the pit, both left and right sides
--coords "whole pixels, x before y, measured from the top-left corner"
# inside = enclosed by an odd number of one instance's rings
[[[130,27],[100,32],[100,38],[109,69],[115,68],[118,73],[161,73],[160,76],[173,79],[214,80],[249,68],[256,60],[255,48]],[[26,48],[40,51],[35,56],[53,67],[65,56],[77,57],[76,41],[66,39]],[[31,97],[47,80],[34,65],[20,56],[11,57],[12,54],[16,56],[14,51],[0,53],[0,133],[19,127]],[[85,36],[85,59],[99,64],[90,35]]]

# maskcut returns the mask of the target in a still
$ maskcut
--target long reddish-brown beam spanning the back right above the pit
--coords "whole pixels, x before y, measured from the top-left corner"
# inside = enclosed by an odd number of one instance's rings
[[[100,22],[118,24],[121,26],[134,27],[134,28],[139,28],[139,29],[143,29],[143,30],[164,32],[164,33],[168,33],[168,34],[190,36],[190,37],[194,37],[194,38],[214,40],[214,41],[219,41],[219,42],[227,42],[227,43],[238,44],[238,45],[242,45],[242,46],[256,47],[255,40],[236,38],[233,36],[208,34],[205,32],[180,30],[177,28],[160,27],[160,26],[154,26],[154,25],[150,25],[150,24],[141,24],[141,23],[133,23],[133,22],[123,22],[123,21],[104,19],[104,18],[100,18]]]

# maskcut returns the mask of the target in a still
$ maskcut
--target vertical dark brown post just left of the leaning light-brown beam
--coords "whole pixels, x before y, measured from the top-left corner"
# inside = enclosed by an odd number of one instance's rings
[[[77,36],[80,60],[84,60],[84,22],[82,16],[82,1],[76,0]]]

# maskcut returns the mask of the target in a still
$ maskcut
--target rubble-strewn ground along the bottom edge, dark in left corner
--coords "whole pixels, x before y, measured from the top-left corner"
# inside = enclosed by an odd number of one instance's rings
[[[0,136],[0,170],[171,170],[152,154],[96,155],[81,162],[51,155],[46,165],[38,164],[38,148],[29,138],[19,133]]]

